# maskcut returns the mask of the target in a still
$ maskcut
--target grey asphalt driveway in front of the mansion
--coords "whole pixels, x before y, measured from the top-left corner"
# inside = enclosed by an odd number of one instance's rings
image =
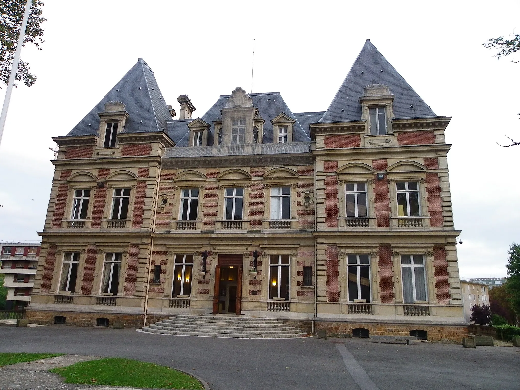
[[[0,352],[145,360],[193,372],[214,390],[520,388],[520,348],[513,347],[215,339],[49,326],[0,327]]]

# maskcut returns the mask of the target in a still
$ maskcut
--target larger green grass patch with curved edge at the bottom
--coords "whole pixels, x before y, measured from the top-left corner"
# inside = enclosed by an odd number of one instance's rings
[[[49,370],[65,377],[65,383],[152,388],[204,389],[193,376],[145,361],[103,358]]]

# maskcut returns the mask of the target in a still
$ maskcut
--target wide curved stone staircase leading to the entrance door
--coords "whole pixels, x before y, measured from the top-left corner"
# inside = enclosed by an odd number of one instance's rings
[[[307,334],[275,318],[176,315],[142,328],[144,332],[236,339],[295,339]]]

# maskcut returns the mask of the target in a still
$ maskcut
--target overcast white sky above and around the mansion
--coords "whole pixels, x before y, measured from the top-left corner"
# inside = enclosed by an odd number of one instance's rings
[[[520,146],[496,142],[520,139],[520,63],[481,44],[520,28],[520,3],[496,4],[47,0],[43,50],[22,50],[37,81],[14,90],[0,146],[0,239],[38,239],[51,137],[66,135],[138,57],[168,104],[178,112],[177,96],[188,94],[202,116],[219,95],[250,92],[255,38],[253,92],[279,91],[293,112],[324,111],[370,38],[437,115],[453,116],[461,276],[505,276],[508,247],[520,243]]]

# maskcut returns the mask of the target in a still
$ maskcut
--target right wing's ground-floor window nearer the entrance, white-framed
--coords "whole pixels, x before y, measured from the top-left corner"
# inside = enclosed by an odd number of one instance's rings
[[[370,256],[347,255],[348,302],[371,302]]]

